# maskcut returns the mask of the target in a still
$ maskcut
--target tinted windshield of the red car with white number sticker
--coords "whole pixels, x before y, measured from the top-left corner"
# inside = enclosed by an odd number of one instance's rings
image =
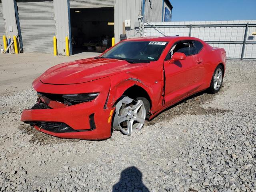
[[[168,42],[160,41],[124,41],[102,55],[102,58],[115,58],[131,63],[156,61]]]

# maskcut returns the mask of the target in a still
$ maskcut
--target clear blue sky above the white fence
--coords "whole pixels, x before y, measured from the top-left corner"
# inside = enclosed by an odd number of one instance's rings
[[[172,21],[256,20],[256,0],[170,0]]]

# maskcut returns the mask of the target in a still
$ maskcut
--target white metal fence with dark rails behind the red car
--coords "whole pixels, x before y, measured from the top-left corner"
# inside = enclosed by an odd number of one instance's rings
[[[230,59],[256,59],[256,20],[148,22],[144,36],[192,36],[226,50]]]

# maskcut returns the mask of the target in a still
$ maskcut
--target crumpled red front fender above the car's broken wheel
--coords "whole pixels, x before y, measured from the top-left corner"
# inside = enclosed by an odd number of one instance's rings
[[[143,63],[142,67],[109,76],[111,86],[105,108],[111,108],[124,92],[136,85],[143,88],[150,98],[153,114],[162,108],[164,86],[163,65],[158,61]]]

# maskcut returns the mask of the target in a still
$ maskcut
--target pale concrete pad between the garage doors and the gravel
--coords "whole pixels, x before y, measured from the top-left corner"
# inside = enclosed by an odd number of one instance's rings
[[[56,64],[95,57],[99,54],[86,52],[68,57],[53,54],[0,53],[0,94],[32,87],[35,78]]]

